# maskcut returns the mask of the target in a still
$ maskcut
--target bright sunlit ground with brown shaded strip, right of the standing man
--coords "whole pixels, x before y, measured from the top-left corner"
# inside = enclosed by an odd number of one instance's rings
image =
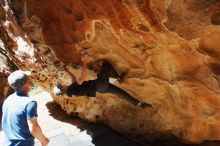
[[[38,103],[39,124],[47,137],[64,134],[67,138],[70,138],[90,127],[89,123],[77,117],[68,116],[53,101],[49,93],[40,92],[34,95],[34,99]]]

